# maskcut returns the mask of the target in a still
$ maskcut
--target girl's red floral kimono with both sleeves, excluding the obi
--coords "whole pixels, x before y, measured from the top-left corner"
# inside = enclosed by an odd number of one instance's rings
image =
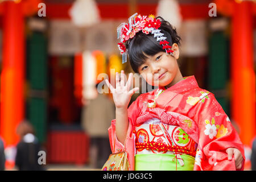
[[[115,119],[109,127],[112,152],[126,150],[131,170],[134,170],[136,153],[135,126],[150,118],[180,126],[197,143],[194,170],[236,170],[234,157],[228,160],[226,154],[229,147],[240,150],[245,160],[243,144],[229,117],[212,93],[199,88],[194,76],[184,77],[155,98],[157,91],[141,94],[128,108],[129,128],[125,147],[115,135]],[[154,98],[156,106],[149,108],[146,103]]]

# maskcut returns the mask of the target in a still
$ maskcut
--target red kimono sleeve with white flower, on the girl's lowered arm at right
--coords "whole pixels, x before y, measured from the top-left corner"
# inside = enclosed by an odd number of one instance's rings
[[[199,127],[194,170],[236,170],[234,156],[228,160],[226,149],[237,148],[245,155],[243,144],[228,115],[212,93],[202,98],[192,108],[193,120]],[[243,166],[242,166],[243,169]]]

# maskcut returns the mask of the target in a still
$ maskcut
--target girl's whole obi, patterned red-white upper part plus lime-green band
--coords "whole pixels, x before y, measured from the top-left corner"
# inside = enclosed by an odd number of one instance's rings
[[[192,170],[197,143],[181,127],[163,125],[170,138],[164,134],[158,118],[136,125],[135,170]],[[177,166],[177,155],[184,166]],[[148,162],[154,165],[148,166]]]

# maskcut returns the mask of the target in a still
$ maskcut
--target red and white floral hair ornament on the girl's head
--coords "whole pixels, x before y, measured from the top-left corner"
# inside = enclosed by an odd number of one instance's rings
[[[117,27],[117,39],[120,39],[121,42],[118,43],[118,48],[121,51],[122,55],[122,63],[126,63],[127,61],[127,50],[126,50],[126,42],[129,39],[134,38],[137,32],[142,31],[144,34],[154,34],[154,38],[159,42],[163,49],[166,50],[166,53],[170,53],[173,56],[174,51],[172,51],[172,47],[169,45],[169,42],[166,41],[166,37],[161,33],[161,30],[158,28],[161,25],[159,19],[155,19],[154,15],[142,16],[135,13],[130,16],[129,24],[122,23]]]

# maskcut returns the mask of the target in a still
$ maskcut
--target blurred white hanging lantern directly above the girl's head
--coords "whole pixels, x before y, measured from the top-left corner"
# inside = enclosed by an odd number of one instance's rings
[[[181,26],[182,16],[179,3],[176,0],[160,0],[158,7],[156,7],[156,15],[162,16],[164,20],[170,22],[177,29]]]

